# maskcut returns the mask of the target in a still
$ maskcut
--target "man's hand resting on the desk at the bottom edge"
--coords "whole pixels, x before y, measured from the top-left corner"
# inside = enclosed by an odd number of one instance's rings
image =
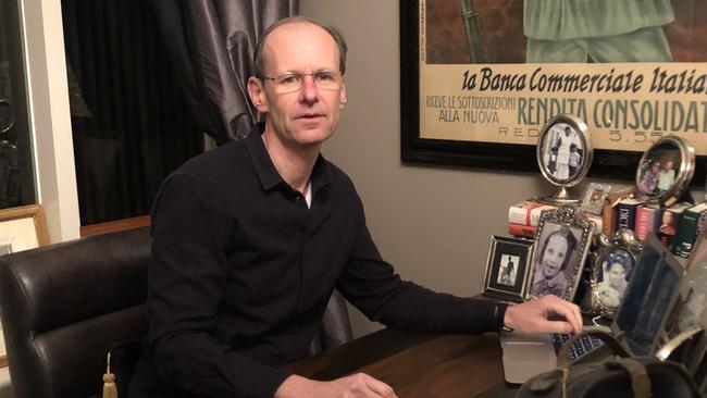
[[[387,384],[364,373],[317,382],[301,376],[287,377],[274,398],[397,398]]]

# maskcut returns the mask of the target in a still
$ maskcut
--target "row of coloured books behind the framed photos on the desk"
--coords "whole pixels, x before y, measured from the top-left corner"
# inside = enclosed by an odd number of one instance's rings
[[[555,206],[524,200],[508,209],[508,232],[511,236],[533,239],[543,210]],[[707,202],[678,203],[668,209],[643,204],[630,191],[610,195],[601,215],[582,212],[594,221],[595,233],[613,234],[619,228],[632,229],[638,240],[655,233],[667,247],[680,257],[687,258],[707,219]]]

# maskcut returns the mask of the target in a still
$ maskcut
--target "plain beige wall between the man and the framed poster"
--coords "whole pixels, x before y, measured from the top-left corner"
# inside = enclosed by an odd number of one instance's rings
[[[404,278],[460,296],[481,291],[491,235],[508,206],[547,194],[538,175],[400,161],[398,1],[301,0],[301,14],[349,45],[348,103],[324,156],[354,179],[371,234]],[[380,325],[352,313],[357,336]]]

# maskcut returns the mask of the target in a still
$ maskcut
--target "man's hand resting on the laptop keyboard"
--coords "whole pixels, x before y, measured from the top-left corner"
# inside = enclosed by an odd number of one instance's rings
[[[580,333],[582,314],[576,304],[548,295],[508,307],[504,325],[520,332]]]

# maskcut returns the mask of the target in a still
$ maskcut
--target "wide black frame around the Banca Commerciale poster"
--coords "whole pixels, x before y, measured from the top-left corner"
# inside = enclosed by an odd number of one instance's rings
[[[420,136],[420,1],[399,1],[400,158],[404,162],[538,173],[533,145],[429,139]],[[588,176],[632,181],[642,151],[595,149]],[[693,182],[705,182],[707,157],[696,157]]]

